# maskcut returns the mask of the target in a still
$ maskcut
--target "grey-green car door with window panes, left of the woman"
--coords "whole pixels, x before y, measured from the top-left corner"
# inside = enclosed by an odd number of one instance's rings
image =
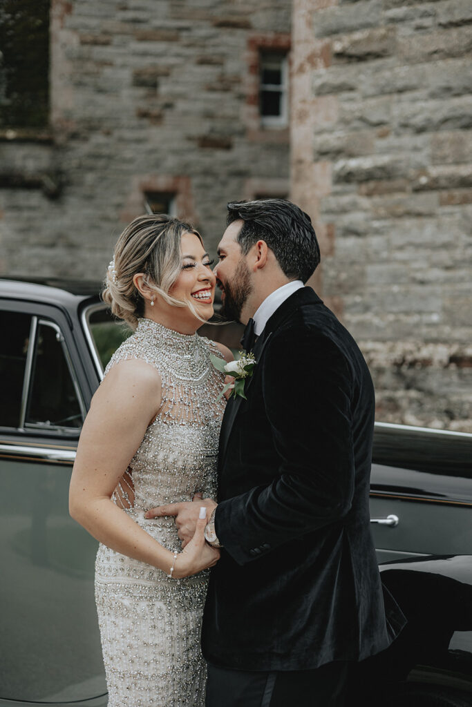
[[[97,543],[68,512],[96,383],[66,311],[0,300],[0,327],[0,701],[105,704]]]

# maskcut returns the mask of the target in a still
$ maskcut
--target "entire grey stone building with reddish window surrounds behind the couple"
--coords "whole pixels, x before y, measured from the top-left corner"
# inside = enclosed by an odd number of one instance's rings
[[[472,431],[468,0],[0,0],[0,274],[101,279],[169,211],[313,219],[377,418]]]

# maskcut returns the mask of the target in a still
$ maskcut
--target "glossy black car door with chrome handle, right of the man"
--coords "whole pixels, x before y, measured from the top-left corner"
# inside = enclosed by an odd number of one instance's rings
[[[472,435],[377,424],[373,460],[379,562],[471,553]]]

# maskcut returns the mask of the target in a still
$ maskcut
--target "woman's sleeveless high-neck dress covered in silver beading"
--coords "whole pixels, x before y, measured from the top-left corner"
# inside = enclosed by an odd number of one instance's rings
[[[113,355],[159,370],[162,402],[118,484],[113,501],[166,549],[180,551],[173,518],[146,520],[149,508],[216,497],[224,376],[209,354],[217,346],[149,320]],[[200,707],[206,666],[200,628],[209,570],[169,579],[167,573],[100,544],[96,605],[108,685],[108,707]]]

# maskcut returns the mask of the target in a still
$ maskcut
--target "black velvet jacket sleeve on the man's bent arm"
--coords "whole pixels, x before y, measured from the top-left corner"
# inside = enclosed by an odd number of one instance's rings
[[[262,375],[275,479],[215,513],[219,541],[241,565],[343,518],[354,489],[352,371],[338,346],[306,327],[275,334]]]

